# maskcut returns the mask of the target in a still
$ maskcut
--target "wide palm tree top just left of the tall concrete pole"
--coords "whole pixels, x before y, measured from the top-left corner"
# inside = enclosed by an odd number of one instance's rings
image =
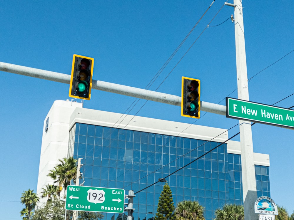
[[[216,209],[215,220],[244,220],[244,206],[226,204],[222,209]]]

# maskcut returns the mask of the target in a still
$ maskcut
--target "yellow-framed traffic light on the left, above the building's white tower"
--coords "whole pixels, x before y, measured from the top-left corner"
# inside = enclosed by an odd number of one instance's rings
[[[94,58],[74,54],[69,97],[90,100]]]

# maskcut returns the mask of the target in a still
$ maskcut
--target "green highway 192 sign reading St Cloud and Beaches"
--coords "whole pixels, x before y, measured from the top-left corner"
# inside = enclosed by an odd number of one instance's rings
[[[124,189],[67,186],[66,210],[123,213]]]

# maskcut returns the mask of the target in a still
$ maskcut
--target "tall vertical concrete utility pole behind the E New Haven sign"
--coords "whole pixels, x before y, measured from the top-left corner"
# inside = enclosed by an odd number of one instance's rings
[[[234,0],[238,99],[249,101],[242,0]],[[257,199],[251,122],[239,120],[245,220],[257,220]]]

